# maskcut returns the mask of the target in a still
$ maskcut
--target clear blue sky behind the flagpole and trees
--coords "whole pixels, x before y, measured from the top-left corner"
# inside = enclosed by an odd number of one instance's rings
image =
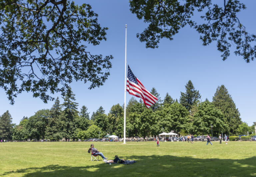
[[[80,1],[75,1],[80,3]],[[127,24],[127,63],[137,78],[150,91],[155,87],[163,99],[168,92],[174,99],[185,92],[185,85],[191,80],[195,89],[202,95],[202,101],[212,97],[218,86],[224,84],[238,108],[242,121],[252,125],[256,121],[255,110],[255,76],[256,61],[246,63],[242,57],[231,53],[222,61],[216,43],[202,46],[199,34],[185,27],[174,36],[174,40],[161,40],[159,48],[146,49],[139,42],[136,33],[142,32],[146,25],[138,20],[129,10],[128,1],[86,1],[98,13],[98,20],[103,27],[108,27],[107,41],[99,46],[88,46],[92,54],[114,56],[110,76],[103,86],[88,90],[89,83],[73,82],[72,91],[79,103],[78,110],[85,105],[90,114],[102,106],[106,113],[111,106],[124,103],[124,59],[125,59],[125,24]],[[247,0],[247,9],[240,12],[240,22],[250,33],[256,33],[256,1]],[[198,14],[197,14],[198,16]],[[232,50],[234,49],[234,46]],[[54,97],[61,97],[55,94]],[[22,93],[10,105],[3,89],[0,90],[0,114],[9,110],[13,122],[19,124],[23,116],[32,116],[40,109],[50,109],[54,102],[44,104],[31,93]],[[131,95],[126,94],[126,103]],[[63,100],[60,99],[62,102]]]

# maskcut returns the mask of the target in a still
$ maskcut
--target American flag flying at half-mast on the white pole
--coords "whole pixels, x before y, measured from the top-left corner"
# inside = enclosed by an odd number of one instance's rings
[[[143,86],[140,80],[134,76],[129,65],[126,91],[133,96],[141,98],[144,101],[144,104],[147,108],[155,104],[157,101],[157,98],[154,95],[152,95],[149,91],[147,91],[147,89]]]

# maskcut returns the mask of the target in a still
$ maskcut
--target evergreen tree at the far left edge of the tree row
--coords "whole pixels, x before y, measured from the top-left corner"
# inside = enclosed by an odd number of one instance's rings
[[[12,116],[7,110],[2,116],[0,116],[0,138],[11,139],[13,126]]]

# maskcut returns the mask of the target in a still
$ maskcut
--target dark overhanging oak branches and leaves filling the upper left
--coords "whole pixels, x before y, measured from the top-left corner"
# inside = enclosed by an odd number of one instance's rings
[[[0,2],[0,87],[11,104],[23,91],[47,103],[49,92],[64,96],[73,80],[103,85],[113,57],[86,50],[106,40],[97,16],[89,4],[69,0]]]

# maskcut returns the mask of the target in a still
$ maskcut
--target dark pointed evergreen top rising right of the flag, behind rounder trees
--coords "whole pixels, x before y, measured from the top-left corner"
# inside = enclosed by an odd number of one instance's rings
[[[180,92],[180,104],[187,108],[187,110],[191,110],[192,106],[194,104],[197,104],[199,99],[201,98],[201,95],[199,94],[198,90],[195,90],[193,83],[191,80],[188,81],[188,83],[185,85],[186,92]]]

